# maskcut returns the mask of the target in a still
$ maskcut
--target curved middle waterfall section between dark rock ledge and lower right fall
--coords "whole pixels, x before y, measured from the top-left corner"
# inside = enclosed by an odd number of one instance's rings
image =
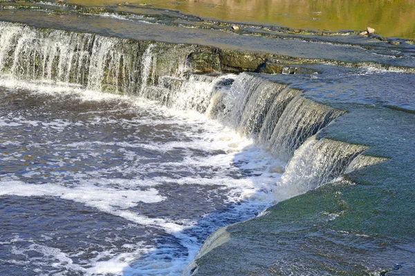
[[[224,108],[218,119],[286,161],[308,137],[345,113],[247,73],[235,77],[220,104]]]

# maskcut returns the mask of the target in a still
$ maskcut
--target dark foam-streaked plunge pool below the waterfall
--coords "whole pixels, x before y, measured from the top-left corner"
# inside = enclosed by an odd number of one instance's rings
[[[284,166],[143,99],[39,83],[0,98],[0,275],[180,275],[269,206]]]

